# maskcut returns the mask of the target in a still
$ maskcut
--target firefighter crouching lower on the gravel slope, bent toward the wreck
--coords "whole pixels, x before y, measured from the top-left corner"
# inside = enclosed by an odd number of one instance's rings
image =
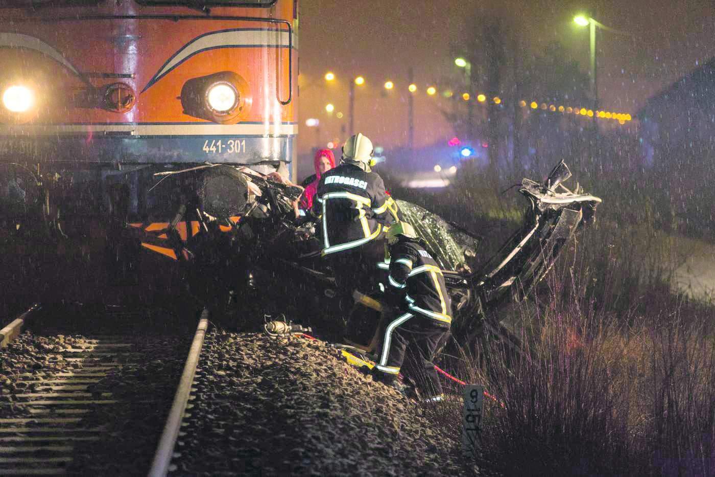
[[[380,320],[375,378],[401,390],[397,377],[402,371],[415,382],[420,400],[443,400],[433,360],[452,322],[444,276],[409,223],[391,226],[387,241],[390,274]]]

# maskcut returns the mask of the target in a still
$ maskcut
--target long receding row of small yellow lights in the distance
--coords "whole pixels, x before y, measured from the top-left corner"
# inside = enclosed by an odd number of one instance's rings
[[[325,73],[325,80],[327,82],[332,82],[335,81],[336,76],[335,73],[333,72],[327,72]],[[358,86],[363,86],[365,85],[365,77],[363,76],[358,76],[353,78],[355,82],[355,85]],[[385,90],[395,90],[398,88],[398,85],[395,84],[393,81],[386,81],[385,84],[383,85],[385,87]],[[419,88],[415,83],[410,83],[408,85],[407,90],[412,93],[413,95],[419,91]],[[438,88],[435,85],[428,85],[428,87],[425,88],[425,92],[427,93],[428,96],[435,96],[438,93]],[[440,92],[440,94],[445,97],[445,98],[450,98],[455,95],[454,91],[450,88],[445,88]],[[480,105],[487,105],[488,102],[493,102],[495,105],[503,105],[504,104],[503,100],[501,97],[495,96],[488,100],[487,96],[482,93],[478,92],[476,95],[470,94],[469,92],[463,92],[462,95],[462,100],[465,102],[472,100],[475,100],[478,102]],[[548,111],[548,112],[558,112],[564,115],[576,115],[576,116],[586,116],[586,117],[595,117],[596,119],[599,120],[613,120],[618,122],[618,124],[624,125],[626,122],[631,121],[632,117],[628,113],[624,112],[613,112],[613,111],[604,111],[604,110],[592,110],[588,109],[586,107],[581,107],[581,106],[571,106],[571,105],[554,105],[551,103],[546,103],[546,102],[538,102],[536,100],[531,100],[527,102],[527,100],[520,100],[518,102],[518,105],[520,107],[528,108],[527,111],[530,110],[541,110],[541,111]],[[325,110],[329,113],[332,113],[335,110],[335,106],[332,105],[332,103],[328,103],[325,106]]]

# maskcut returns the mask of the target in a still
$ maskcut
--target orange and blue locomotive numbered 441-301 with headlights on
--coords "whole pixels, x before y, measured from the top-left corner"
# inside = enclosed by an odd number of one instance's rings
[[[140,257],[178,258],[160,232],[197,187],[162,173],[294,175],[297,26],[297,0],[0,0],[5,253],[77,249],[141,281]]]

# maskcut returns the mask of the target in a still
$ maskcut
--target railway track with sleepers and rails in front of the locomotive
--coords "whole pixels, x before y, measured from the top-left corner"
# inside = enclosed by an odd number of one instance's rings
[[[149,475],[166,475],[207,312],[188,357],[185,337],[135,330],[29,338],[21,329],[33,312],[0,331],[0,341],[14,352],[0,357],[16,358],[16,372],[0,367],[0,475],[142,475],[149,463]]]

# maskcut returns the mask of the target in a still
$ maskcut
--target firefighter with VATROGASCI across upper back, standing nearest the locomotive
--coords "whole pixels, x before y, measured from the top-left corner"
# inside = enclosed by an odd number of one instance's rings
[[[349,294],[353,285],[370,285],[375,264],[382,259],[378,242],[383,226],[393,223],[383,178],[372,171],[373,143],[358,133],[342,148],[337,168],[320,177],[312,215],[320,220],[322,256],[329,259],[337,286]]]

